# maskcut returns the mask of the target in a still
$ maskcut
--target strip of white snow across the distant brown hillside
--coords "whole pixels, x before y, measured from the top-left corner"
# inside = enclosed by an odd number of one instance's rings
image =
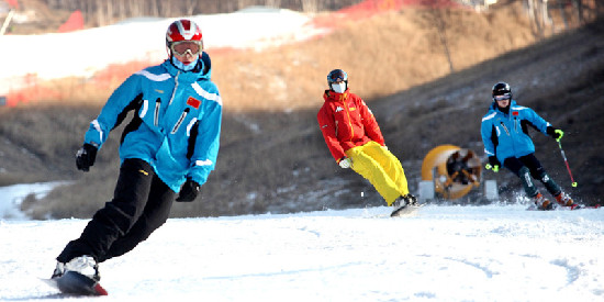
[[[314,27],[311,15],[282,9],[248,8],[188,18],[200,24],[206,49],[261,49],[326,31]],[[0,96],[26,86],[26,75],[90,77],[110,64],[160,63],[167,57],[166,29],[175,20],[139,18],[71,33],[0,35],[0,45],[10,45],[0,47]]]

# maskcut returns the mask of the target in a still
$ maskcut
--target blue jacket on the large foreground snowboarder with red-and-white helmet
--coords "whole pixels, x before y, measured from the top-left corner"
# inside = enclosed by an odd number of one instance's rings
[[[192,71],[184,72],[168,59],[133,74],[90,123],[85,143],[100,149],[110,131],[134,110],[122,133],[121,161],[149,163],[175,192],[187,178],[205,183],[215,167],[222,123],[222,99],[210,76],[205,53]]]

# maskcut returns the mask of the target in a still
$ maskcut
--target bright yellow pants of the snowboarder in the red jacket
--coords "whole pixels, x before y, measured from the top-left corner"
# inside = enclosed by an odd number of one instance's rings
[[[388,205],[409,193],[401,161],[380,144],[371,141],[348,149],[346,156],[353,160],[353,170],[369,180]]]

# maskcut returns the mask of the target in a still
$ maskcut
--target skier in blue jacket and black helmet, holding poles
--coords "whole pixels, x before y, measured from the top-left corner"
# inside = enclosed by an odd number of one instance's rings
[[[560,205],[574,209],[577,204],[573,200],[549,177],[535,157],[535,145],[528,136],[528,126],[557,141],[564,133],[546,122],[533,109],[516,104],[508,83],[495,83],[492,96],[493,103],[482,118],[480,130],[484,153],[489,156],[486,168],[496,172],[503,163],[521,179],[524,191],[539,210],[552,210],[553,203],[539,192],[532,178],[541,181]]]

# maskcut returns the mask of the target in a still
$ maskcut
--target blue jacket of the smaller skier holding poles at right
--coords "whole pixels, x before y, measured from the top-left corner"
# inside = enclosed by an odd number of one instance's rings
[[[501,163],[508,157],[521,157],[535,153],[535,145],[528,135],[528,126],[546,134],[550,125],[533,109],[510,103],[508,114],[499,110],[493,102],[482,118],[480,133],[486,156],[496,156]],[[547,135],[547,134],[546,134]]]

